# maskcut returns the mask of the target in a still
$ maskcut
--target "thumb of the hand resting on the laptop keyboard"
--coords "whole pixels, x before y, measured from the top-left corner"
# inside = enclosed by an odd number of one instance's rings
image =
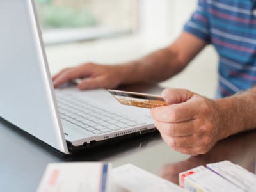
[[[101,77],[88,77],[83,79],[77,86],[80,90],[106,88],[106,81]]]

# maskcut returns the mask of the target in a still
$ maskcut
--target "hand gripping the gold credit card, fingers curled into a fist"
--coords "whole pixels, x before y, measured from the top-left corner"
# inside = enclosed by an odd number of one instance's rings
[[[166,89],[162,95],[169,105],[152,108],[150,113],[173,150],[196,156],[220,140],[220,108],[214,100],[179,89]]]

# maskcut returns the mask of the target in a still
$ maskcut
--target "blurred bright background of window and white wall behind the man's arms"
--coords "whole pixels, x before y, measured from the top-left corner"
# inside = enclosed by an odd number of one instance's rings
[[[35,0],[52,74],[92,61],[117,64],[170,45],[197,0]],[[218,58],[208,46],[160,83],[214,97]]]

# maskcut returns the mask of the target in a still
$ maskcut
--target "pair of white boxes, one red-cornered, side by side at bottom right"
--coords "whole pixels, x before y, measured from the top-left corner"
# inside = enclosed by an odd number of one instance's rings
[[[230,161],[221,161],[180,173],[179,184],[193,192],[250,192],[256,189],[256,175]]]

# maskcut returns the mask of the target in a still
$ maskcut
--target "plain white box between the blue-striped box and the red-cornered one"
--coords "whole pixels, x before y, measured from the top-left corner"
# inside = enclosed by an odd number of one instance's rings
[[[185,191],[176,184],[157,177],[132,164],[124,164],[123,166],[114,168],[111,174],[111,191],[113,192]]]

